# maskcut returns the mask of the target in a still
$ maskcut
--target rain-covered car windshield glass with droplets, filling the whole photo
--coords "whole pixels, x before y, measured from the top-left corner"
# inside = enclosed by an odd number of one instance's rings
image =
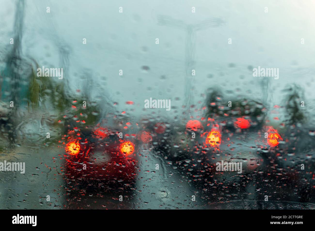
[[[315,208],[315,3],[0,6],[1,209]]]

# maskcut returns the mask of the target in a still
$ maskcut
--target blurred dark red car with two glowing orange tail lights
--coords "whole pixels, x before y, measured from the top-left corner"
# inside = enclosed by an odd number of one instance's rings
[[[125,135],[126,137],[126,135]],[[69,181],[132,184],[137,175],[136,139],[119,139],[106,129],[70,131],[64,137],[65,175]]]

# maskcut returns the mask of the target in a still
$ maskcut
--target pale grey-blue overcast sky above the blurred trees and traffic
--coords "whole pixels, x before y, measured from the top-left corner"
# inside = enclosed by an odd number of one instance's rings
[[[171,99],[171,106],[180,113],[189,49],[193,49],[191,59],[196,71],[195,76],[189,76],[189,97],[193,97],[194,104],[204,102],[203,93],[210,87],[230,92],[226,93],[227,99],[262,99],[266,81],[253,77],[251,70],[258,66],[279,68],[279,79],[267,81],[271,106],[283,100],[281,90],[288,83],[303,86],[305,95],[314,98],[315,2],[220,3],[26,1],[23,55],[34,58],[40,66],[66,69],[63,81],[67,81],[69,91],[88,89],[92,97],[106,94],[118,103],[118,110],[127,107],[126,101],[134,101],[134,114],[144,113],[144,100],[150,97]],[[9,41],[13,34],[14,4],[15,1],[0,0],[2,41]],[[171,19],[169,25],[159,25],[161,16]],[[196,28],[214,18],[223,24],[193,32],[192,43],[187,43],[186,25]],[[185,27],[171,26],[177,21]],[[83,38],[87,44],[83,44]],[[229,39],[232,44],[228,44]],[[0,49],[5,51],[7,46]],[[3,58],[4,52],[1,53]],[[123,70],[123,76],[119,70]],[[162,109],[159,113],[165,114]]]

